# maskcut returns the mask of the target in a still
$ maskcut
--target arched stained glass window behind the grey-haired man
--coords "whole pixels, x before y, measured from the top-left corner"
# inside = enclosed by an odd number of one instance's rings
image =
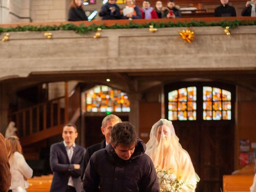
[[[86,112],[130,112],[130,101],[125,92],[99,85],[86,91]]]

